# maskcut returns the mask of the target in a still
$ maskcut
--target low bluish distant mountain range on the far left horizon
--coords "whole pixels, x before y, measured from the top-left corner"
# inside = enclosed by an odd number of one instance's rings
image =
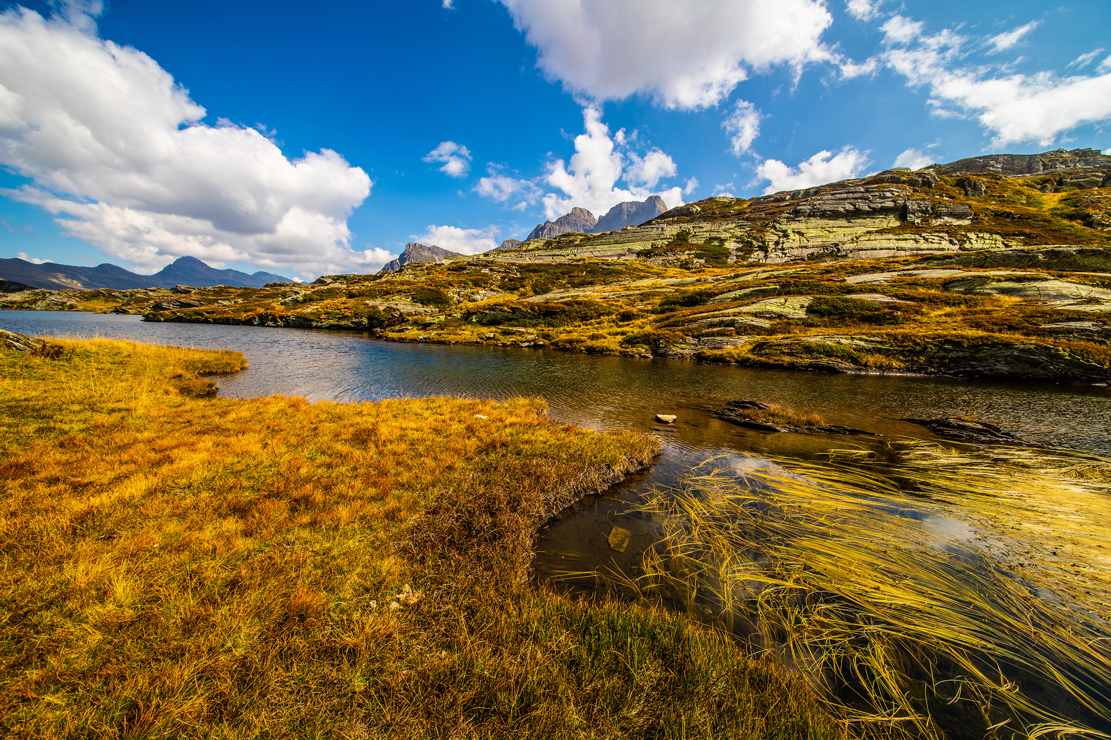
[[[21,259],[0,259],[0,280],[21,282],[46,290],[114,290],[142,288],[173,288],[174,286],[232,286],[233,288],[261,288],[268,282],[289,282],[289,278],[272,272],[248,274],[239,270],[217,270],[193,257],[179,257],[154,274],[137,274],[116,264],[104,262],[97,267],[34,264]]]

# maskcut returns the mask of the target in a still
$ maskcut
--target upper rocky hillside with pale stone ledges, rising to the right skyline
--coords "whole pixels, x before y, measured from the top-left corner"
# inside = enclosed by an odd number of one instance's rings
[[[728,267],[1038,244],[1107,246],[1109,186],[1111,157],[1095,150],[993,154],[747,200],[709,198],[643,226],[533,239],[499,257]]]

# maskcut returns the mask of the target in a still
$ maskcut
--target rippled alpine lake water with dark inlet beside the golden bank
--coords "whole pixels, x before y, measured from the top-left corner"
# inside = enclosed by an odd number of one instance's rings
[[[310,401],[358,402],[421,396],[541,397],[553,421],[654,434],[663,451],[651,468],[560,512],[536,542],[534,578],[583,598],[598,598],[603,591],[630,596],[627,584],[643,578],[644,554],[662,537],[661,514],[645,510],[645,497],[652,492],[667,496],[681,487],[695,466],[743,478],[749,471],[781,469],[784,461],[820,463],[844,451],[882,456],[892,443],[913,440],[962,447],[901,420],[943,417],[991,422],[1013,432],[1027,449],[1057,450],[1085,459],[1111,457],[1111,389],[1107,387],[755,370],[533,348],[398,343],[356,331],[154,323],[138,316],[83,312],[0,311],[0,328],[39,337],[102,337],[237,350],[250,364],[243,372],[218,378],[219,393],[226,398],[280,393]],[[869,433],[748,429],[714,414],[733,400],[782,403],[821,414],[829,424]],[[674,414],[677,420],[660,423],[657,414]],[[981,458],[992,459],[990,448],[963,446],[979,448]],[[831,509],[837,506],[831,497]],[[960,516],[959,508],[933,506],[929,499],[912,508],[893,507],[889,516],[913,519],[911,531],[934,541],[970,568],[982,563],[984,549],[991,551],[992,562],[1007,560],[1000,558],[1001,549],[1022,549],[1021,542],[985,533],[974,517]],[[1098,534],[1108,532],[1111,530]],[[1111,547],[1111,540],[1107,546]],[[1021,576],[1013,578],[1021,580]],[[1030,590],[1039,598],[1061,601],[1037,588]],[[703,618],[700,610],[690,609],[690,603],[675,600],[673,594],[662,601]],[[1054,608],[1082,610],[1084,604]],[[714,618],[703,621],[721,624]],[[1091,637],[1105,643],[1111,639],[1111,626],[1102,624],[1107,628],[1102,634]],[[733,631],[743,639],[743,630]],[[1083,677],[1085,670],[1074,673]],[[1088,682],[1099,682],[1098,676],[1087,676]],[[1067,692],[1039,684],[1035,678],[1020,682],[1025,692],[1039,697],[1059,717],[1111,731],[1111,708],[1091,711]],[[1107,696],[1105,687],[1097,693]],[[939,723],[949,737],[983,737],[979,723],[972,723],[977,727],[970,726],[965,734],[963,721],[961,714],[952,713]]]

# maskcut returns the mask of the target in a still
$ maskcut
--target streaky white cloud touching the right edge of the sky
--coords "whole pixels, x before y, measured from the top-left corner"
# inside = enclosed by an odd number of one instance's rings
[[[949,30],[922,36],[921,23],[907,19],[892,28],[910,27],[917,30],[888,33],[900,46],[884,53],[884,62],[911,87],[929,87],[934,114],[975,116],[994,134],[992,147],[1027,141],[1050,146],[1070,129],[1111,119],[1111,74],[993,77],[998,70],[992,68],[961,66],[965,38]]]

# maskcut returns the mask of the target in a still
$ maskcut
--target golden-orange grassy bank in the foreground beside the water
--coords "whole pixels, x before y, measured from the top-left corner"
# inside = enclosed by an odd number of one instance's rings
[[[234,352],[0,349],[0,731],[838,738],[685,619],[526,583],[657,442],[541,401],[211,397]]]

